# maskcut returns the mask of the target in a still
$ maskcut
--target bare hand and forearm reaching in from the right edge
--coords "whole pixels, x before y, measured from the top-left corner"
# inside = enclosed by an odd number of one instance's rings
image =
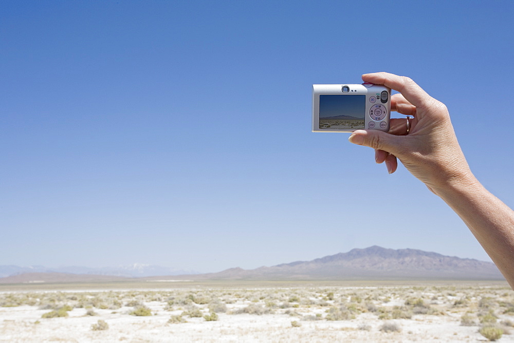
[[[399,91],[391,110],[414,118],[408,135],[405,119],[391,119],[389,132],[357,130],[348,140],[375,149],[390,174],[400,160],[461,217],[514,289],[514,211],[471,173],[446,106],[407,77],[379,72],[362,80]]]

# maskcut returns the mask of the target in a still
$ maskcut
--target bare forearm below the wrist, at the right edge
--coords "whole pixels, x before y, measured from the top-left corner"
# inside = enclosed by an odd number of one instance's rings
[[[460,185],[434,193],[462,218],[514,289],[514,211],[471,174]]]

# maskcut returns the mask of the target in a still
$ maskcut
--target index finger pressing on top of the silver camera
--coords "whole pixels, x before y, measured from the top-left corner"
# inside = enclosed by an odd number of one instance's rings
[[[430,96],[412,79],[387,72],[377,72],[362,75],[362,81],[375,85],[384,85],[399,91],[407,101],[416,107],[423,106]]]

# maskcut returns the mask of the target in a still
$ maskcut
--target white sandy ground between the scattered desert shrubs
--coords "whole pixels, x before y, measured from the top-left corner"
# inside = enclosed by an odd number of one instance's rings
[[[334,293],[334,300],[322,300],[327,291]],[[135,291],[131,294],[126,291],[119,292],[87,292],[88,298],[104,297],[107,295],[127,299],[134,297],[142,301],[152,310],[152,316],[133,316],[129,313],[133,307],[123,306],[118,309],[100,309],[90,307],[98,315],[88,316],[85,308],[74,308],[68,312],[68,317],[42,318],[44,313],[51,309],[40,310],[38,305],[29,306],[22,304],[17,307],[0,307],[0,341],[131,341],[131,342],[476,342],[487,341],[479,332],[478,314],[484,308],[479,308],[481,298],[492,299],[486,309],[499,316],[498,323],[502,320],[514,321],[514,313],[505,312],[502,304],[510,303],[514,298],[511,290],[461,289],[457,291],[424,290],[416,289],[376,289],[376,290],[341,290],[341,289],[259,289],[259,290],[160,290],[160,291]],[[146,293],[145,293],[146,292]],[[323,293],[324,292],[324,293]],[[448,294],[450,293],[450,295]],[[4,296],[22,296],[22,292],[4,293]],[[27,294],[27,293],[25,293]],[[42,299],[48,294],[35,294]],[[82,293],[54,293],[60,297],[70,294],[83,296]],[[146,294],[146,295],[145,295]],[[217,321],[206,321],[204,318],[190,318],[183,316],[186,323],[168,323],[172,315],[180,315],[187,306],[174,304],[171,309],[168,299],[185,298],[193,294],[194,297],[206,296],[217,298],[218,301],[227,302],[227,312],[218,313]],[[325,295],[323,295],[325,294]],[[353,294],[353,295],[352,295]],[[368,300],[352,302],[352,296],[357,294],[360,299],[368,296]],[[454,294],[454,295],[453,295]],[[34,294],[32,294],[34,295]],[[297,295],[300,301],[287,303],[290,295]],[[389,297],[387,302],[384,297]],[[151,298],[159,298],[151,300]],[[274,297],[274,298],[273,298]],[[364,309],[364,302],[375,304],[383,311],[392,311],[395,306],[403,306],[406,298],[423,298],[425,303],[430,302],[430,308],[440,311],[439,314],[413,314],[410,319],[379,319],[379,312],[358,311],[354,319],[347,320],[304,320],[306,315],[321,314],[326,316],[327,309],[332,306],[345,304],[350,308],[352,304]],[[1,299],[2,297],[0,297]],[[262,298],[262,299],[261,299]],[[466,298],[466,307],[454,307],[454,299]],[[150,300],[149,300],[150,299]],[[321,300],[320,300],[321,299]],[[429,300],[431,299],[431,300]],[[284,301],[283,301],[284,300]],[[350,301],[348,301],[350,300]],[[198,301],[198,300],[197,300]],[[274,302],[278,307],[272,309],[272,314],[236,314],[237,309],[242,309],[250,304],[258,304],[266,309],[266,301]],[[358,301],[358,300],[357,300]],[[69,302],[74,302],[70,300]],[[201,301],[200,301],[201,302]],[[39,302],[41,306],[42,301]],[[77,301],[75,301],[77,303]],[[280,308],[286,303],[285,308]],[[5,302],[4,302],[5,304]],[[190,304],[199,308],[204,314],[208,314],[208,303]],[[290,307],[296,306],[296,307]],[[268,306],[269,308],[269,306]],[[405,309],[405,308],[404,308]],[[170,311],[171,310],[171,311]],[[461,326],[461,316],[470,312],[476,319],[476,326]],[[103,331],[91,330],[91,325],[99,319],[105,320],[109,328]],[[292,321],[297,321],[301,326],[293,327]],[[396,323],[400,332],[382,332],[380,327],[384,324]],[[367,326],[367,327],[364,327]],[[508,328],[505,328],[508,330]],[[499,342],[514,341],[510,334],[504,334]]]

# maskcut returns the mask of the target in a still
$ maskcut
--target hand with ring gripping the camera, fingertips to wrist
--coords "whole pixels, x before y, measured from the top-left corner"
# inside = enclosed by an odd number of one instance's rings
[[[375,161],[386,162],[390,174],[399,159],[436,194],[439,189],[470,179],[469,166],[443,103],[406,77],[379,72],[364,74],[362,80],[399,91],[391,97],[391,110],[414,118],[408,134],[407,120],[391,119],[389,132],[356,130],[348,138],[351,143],[374,148]]]

